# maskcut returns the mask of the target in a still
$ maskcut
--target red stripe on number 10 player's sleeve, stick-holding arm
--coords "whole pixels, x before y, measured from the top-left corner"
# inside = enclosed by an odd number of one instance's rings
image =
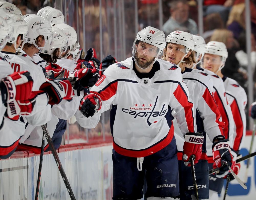
[[[183,90],[182,86],[178,85],[173,94],[180,105],[184,108],[188,131],[195,132],[193,104],[188,101],[186,92]]]

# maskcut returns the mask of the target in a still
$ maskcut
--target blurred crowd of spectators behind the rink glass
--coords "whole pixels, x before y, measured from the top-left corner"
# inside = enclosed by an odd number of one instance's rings
[[[64,1],[57,0],[8,0],[8,2],[15,4],[23,15],[36,14],[40,8],[45,6],[57,7],[62,9],[63,13],[66,10],[66,23],[76,29],[80,46],[83,49],[95,48],[101,57],[100,60],[108,54],[115,56],[118,61],[123,60],[124,57],[130,57],[136,28],[138,30],[146,26],[162,28],[161,30],[165,32],[166,36],[174,30],[198,34],[198,4],[195,0],[162,0],[162,22],[159,17],[159,0],[138,0],[138,27],[135,27],[134,0],[102,0],[101,2],[67,0],[66,5]],[[84,10],[82,10],[83,5]],[[123,8],[125,13],[122,13],[120,8]],[[255,11],[256,1],[251,0],[251,63],[254,83],[256,82]],[[84,16],[82,16],[83,13]],[[83,17],[86,19],[84,23]],[[222,69],[223,75],[236,80],[247,91],[248,60],[244,0],[204,0],[203,21],[204,33],[202,37],[206,43],[212,40],[220,41],[225,43],[228,49],[228,58]],[[121,27],[123,22],[125,23],[124,29]],[[123,37],[125,38],[124,42],[122,42]],[[103,42],[102,47],[101,41]],[[122,50],[124,51],[123,54],[121,53]],[[256,90],[256,84],[254,89]],[[101,118],[98,126],[89,130],[80,127],[76,122],[70,123],[65,134],[65,142],[93,143],[102,139],[111,141],[109,114],[106,113]]]

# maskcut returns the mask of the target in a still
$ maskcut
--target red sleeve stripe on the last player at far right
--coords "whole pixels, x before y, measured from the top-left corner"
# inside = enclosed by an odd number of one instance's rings
[[[234,118],[234,123],[236,125],[237,133],[236,138],[234,139],[233,149],[235,151],[238,151],[243,137],[243,120],[235,98],[234,101],[230,104],[230,107]]]

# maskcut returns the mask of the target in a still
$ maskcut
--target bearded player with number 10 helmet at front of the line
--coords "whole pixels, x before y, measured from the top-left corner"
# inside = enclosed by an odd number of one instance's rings
[[[195,161],[201,155],[203,136],[194,133],[193,104],[180,68],[157,59],[165,44],[163,31],[148,26],[138,32],[133,57],[110,65],[80,103],[81,114],[89,117],[84,127],[95,127],[112,104],[114,200],[142,198],[144,177],[148,200],[179,195],[171,110],[185,138],[198,141],[187,140],[184,154],[195,155]]]

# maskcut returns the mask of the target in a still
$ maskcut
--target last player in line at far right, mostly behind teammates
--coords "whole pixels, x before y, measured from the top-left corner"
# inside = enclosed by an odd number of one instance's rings
[[[239,154],[241,143],[245,136],[246,116],[244,108],[247,104],[247,96],[244,89],[235,80],[230,79],[221,73],[221,69],[224,67],[227,57],[227,48],[223,42],[210,41],[206,45],[203,67],[216,73],[224,82],[227,101],[231,107],[234,119],[234,136],[233,139],[230,140],[231,147],[233,148],[232,155],[234,157],[231,168],[237,174],[240,169],[240,164],[236,164],[235,160]],[[219,166],[217,165],[217,167]],[[213,165],[213,168],[216,168],[215,164]],[[225,172],[216,174],[216,177],[225,177],[227,174],[228,169]],[[214,175],[212,177],[214,177]],[[223,186],[223,183],[223,179],[217,179],[216,181],[213,181],[212,179],[209,180],[210,190],[216,192],[215,198],[217,197],[217,192],[221,192],[221,186]]]

